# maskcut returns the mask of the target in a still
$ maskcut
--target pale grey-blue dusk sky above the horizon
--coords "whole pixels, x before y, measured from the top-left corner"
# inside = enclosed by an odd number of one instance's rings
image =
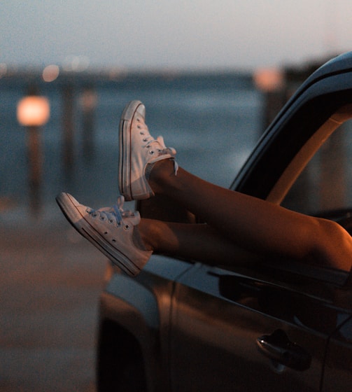
[[[0,64],[258,69],[352,50],[351,0],[1,0]]]

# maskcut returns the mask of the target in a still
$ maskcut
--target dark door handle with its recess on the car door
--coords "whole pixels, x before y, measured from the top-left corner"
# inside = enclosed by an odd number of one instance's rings
[[[261,353],[280,365],[295,370],[307,370],[311,365],[311,356],[298,344],[288,339],[283,330],[276,330],[272,335],[258,337],[257,346]]]

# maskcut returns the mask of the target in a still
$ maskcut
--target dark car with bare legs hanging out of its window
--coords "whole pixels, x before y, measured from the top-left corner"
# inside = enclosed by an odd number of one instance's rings
[[[350,118],[352,52],[304,81],[231,189],[352,232]],[[136,207],[142,217],[197,221],[161,197]],[[131,278],[109,264],[97,388],[352,391],[349,272],[283,258],[224,267],[153,255]]]

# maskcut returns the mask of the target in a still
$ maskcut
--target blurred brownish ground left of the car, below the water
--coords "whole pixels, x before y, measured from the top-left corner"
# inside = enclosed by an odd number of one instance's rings
[[[95,391],[107,259],[48,216],[0,210],[1,392]]]

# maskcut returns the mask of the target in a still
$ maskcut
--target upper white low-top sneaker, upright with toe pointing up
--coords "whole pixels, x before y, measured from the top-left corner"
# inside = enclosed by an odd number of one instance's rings
[[[120,120],[119,188],[126,200],[153,196],[146,178],[146,168],[159,160],[173,159],[174,148],[168,148],[162,137],[154,139],[145,123],[146,108],[140,101],[127,104]],[[178,165],[174,160],[175,174]]]

